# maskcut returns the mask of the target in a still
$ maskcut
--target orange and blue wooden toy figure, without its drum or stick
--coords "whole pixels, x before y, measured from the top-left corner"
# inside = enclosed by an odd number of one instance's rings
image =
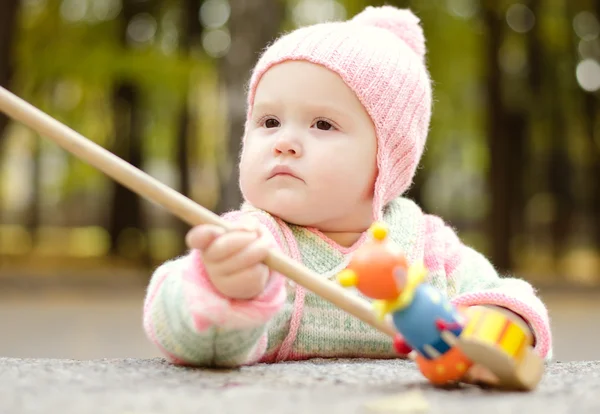
[[[373,307],[380,320],[391,314],[401,333],[394,340],[396,349],[399,353],[415,350],[417,364],[429,381],[460,380],[472,364],[453,346],[464,318],[438,290],[424,283],[424,267],[409,267],[402,253],[386,243],[385,227],[376,223],[370,232],[373,242],[356,251],[338,281],[375,299]]]

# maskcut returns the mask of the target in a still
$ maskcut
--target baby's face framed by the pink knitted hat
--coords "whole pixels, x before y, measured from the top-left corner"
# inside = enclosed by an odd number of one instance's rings
[[[252,205],[325,232],[369,227],[375,129],[337,74],[300,61],[272,67],[249,122],[240,185]]]

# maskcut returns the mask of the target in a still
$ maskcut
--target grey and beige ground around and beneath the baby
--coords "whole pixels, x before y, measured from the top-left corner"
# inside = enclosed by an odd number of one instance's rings
[[[407,361],[175,367],[141,327],[144,289],[0,293],[0,413],[598,413],[600,294],[543,293],[554,361],[533,392],[436,389]]]

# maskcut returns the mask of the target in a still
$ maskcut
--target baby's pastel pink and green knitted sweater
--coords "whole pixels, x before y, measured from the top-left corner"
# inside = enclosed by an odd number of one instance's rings
[[[317,229],[284,223],[249,205],[223,217],[236,221],[247,216],[274,235],[277,248],[329,279],[347,266],[367,236],[343,248]],[[392,201],[383,221],[409,262],[422,261],[429,270],[428,282],[452,303],[512,310],[529,323],[540,356],[551,358],[548,313],[529,283],[500,277],[440,218],[424,214],[409,199]],[[155,270],[143,323],[148,338],[175,364],[235,367],[312,357],[398,357],[389,336],[276,272],[252,300],[222,296],[194,250]]]

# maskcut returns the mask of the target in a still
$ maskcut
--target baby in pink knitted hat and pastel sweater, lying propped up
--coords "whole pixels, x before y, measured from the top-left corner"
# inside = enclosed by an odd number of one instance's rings
[[[300,28],[260,57],[248,90],[235,230],[196,226],[190,251],[152,275],[144,329],[175,364],[396,358],[387,335],[267,268],[270,248],[333,279],[385,222],[409,262],[455,305],[523,318],[551,358],[547,310],[501,278],[440,218],[403,197],[423,153],[432,91],[418,18],[391,6]]]

